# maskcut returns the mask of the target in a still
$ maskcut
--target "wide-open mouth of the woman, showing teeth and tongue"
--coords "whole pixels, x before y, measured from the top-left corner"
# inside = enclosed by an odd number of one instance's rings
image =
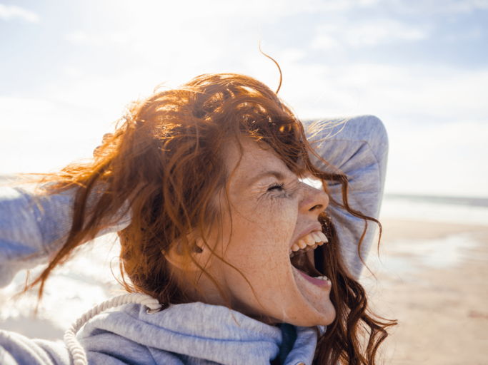
[[[330,279],[315,268],[310,260],[313,250],[329,242],[323,232],[310,232],[305,237],[295,242],[290,250],[290,262],[302,276],[314,285],[319,287],[330,286]],[[312,251],[312,252],[310,252]]]

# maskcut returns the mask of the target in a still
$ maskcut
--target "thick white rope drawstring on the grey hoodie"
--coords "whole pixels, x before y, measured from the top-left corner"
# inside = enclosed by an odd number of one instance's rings
[[[88,359],[86,358],[86,352],[76,339],[76,332],[83,327],[86,322],[88,322],[91,318],[95,317],[97,314],[104,312],[106,309],[119,307],[124,304],[143,304],[148,307],[147,312],[149,314],[154,313],[161,309],[161,304],[157,301],[157,299],[149,297],[149,295],[141,294],[141,293],[130,293],[130,294],[123,294],[119,295],[119,297],[114,297],[105,302],[96,305],[95,307],[91,308],[88,312],[84,313],[76,319],[76,322],[71,324],[69,329],[66,329],[64,332],[64,343],[68,347],[69,354],[73,357],[74,365],[88,365]]]

